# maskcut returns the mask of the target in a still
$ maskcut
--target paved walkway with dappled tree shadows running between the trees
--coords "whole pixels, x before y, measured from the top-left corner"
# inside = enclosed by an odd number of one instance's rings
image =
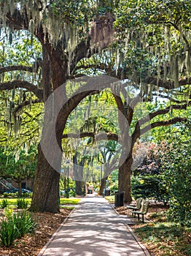
[[[39,256],[148,256],[129,221],[103,197],[82,198]]]

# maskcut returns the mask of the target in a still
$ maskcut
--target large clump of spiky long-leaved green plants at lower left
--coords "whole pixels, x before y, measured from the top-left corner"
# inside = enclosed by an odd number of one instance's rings
[[[31,214],[26,211],[12,214],[7,219],[3,219],[0,224],[0,240],[4,246],[10,246],[16,238],[20,238],[26,233],[33,233],[36,222]]]

